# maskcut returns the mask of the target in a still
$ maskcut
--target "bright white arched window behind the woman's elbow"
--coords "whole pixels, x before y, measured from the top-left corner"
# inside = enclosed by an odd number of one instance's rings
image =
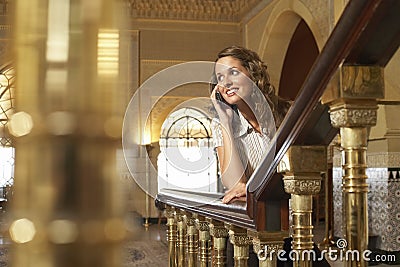
[[[192,108],[168,116],[161,128],[158,189],[220,191],[210,119]]]

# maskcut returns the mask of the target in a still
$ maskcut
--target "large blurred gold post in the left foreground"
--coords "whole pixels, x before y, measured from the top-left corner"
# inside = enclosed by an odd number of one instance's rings
[[[18,0],[13,12],[11,263],[120,266],[124,13],[111,0]]]

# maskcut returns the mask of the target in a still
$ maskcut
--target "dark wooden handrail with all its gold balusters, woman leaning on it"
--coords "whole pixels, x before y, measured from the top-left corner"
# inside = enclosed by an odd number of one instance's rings
[[[382,69],[400,44],[399,8],[397,0],[349,2],[276,133],[276,152],[266,156],[249,180],[246,203],[226,205],[218,194],[172,189],[157,195],[156,204],[168,218],[169,266],[224,266],[227,238],[235,266],[247,266],[250,245],[260,266],[275,266],[276,252],[289,235],[295,252],[312,249],[312,195],[327,169],[326,146],[335,127],[342,133],[345,238],[349,249],[366,248],[367,128],[376,118],[376,100],[383,96]],[[326,105],[320,103],[322,96]],[[363,259],[347,263],[366,265]],[[310,266],[311,261],[300,257],[294,265]]]

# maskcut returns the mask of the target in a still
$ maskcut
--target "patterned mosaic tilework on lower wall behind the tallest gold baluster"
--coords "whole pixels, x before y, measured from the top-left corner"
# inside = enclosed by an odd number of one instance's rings
[[[368,168],[369,234],[378,236],[377,248],[400,251],[400,168]],[[334,234],[344,235],[342,170],[333,168]]]

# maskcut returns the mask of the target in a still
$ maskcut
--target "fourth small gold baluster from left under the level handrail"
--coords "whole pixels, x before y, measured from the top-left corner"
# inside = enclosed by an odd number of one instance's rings
[[[211,237],[210,226],[204,216],[198,216],[196,227],[199,231],[199,258],[200,266],[206,267],[211,264]]]

